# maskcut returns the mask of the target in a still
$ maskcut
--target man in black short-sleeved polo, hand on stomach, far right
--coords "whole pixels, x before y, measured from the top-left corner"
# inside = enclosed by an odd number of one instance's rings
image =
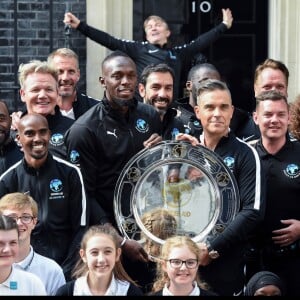
[[[299,296],[300,277],[295,274],[300,268],[300,143],[289,139],[285,94],[269,89],[257,95],[254,121],[261,138],[253,146],[267,181],[265,218],[254,234],[256,271],[264,267],[276,273],[286,285],[286,296]]]

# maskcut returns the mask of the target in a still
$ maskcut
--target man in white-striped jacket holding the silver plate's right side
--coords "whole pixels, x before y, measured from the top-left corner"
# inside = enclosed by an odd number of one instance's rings
[[[223,159],[233,173],[240,209],[224,230],[212,237],[203,251],[200,277],[219,295],[241,295],[245,284],[244,254],[248,240],[263,218],[264,184],[261,164],[255,149],[237,139],[229,125],[233,115],[231,93],[224,82],[203,81],[197,91],[195,113],[203,126],[202,145]],[[199,144],[195,137],[179,135],[177,139]],[[224,197],[223,205],[231,205]]]

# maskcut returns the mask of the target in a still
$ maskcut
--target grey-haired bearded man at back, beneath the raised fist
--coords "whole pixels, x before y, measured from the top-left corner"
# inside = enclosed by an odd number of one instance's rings
[[[77,89],[80,80],[78,55],[69,48],[59,48],[48,56],[48,63],[58,70],[58,106],[63,116],[78,119],[83,113],[96,105],[93,99]]]

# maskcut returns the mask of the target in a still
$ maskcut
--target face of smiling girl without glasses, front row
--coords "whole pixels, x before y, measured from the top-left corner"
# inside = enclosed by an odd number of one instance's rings
[[[86,250],[80,250],[81,258],[87,264],[90,274],[96,277],[111,276],[120,254],[121,249],[116,249],[114,242],[106,234],[91,237]]]

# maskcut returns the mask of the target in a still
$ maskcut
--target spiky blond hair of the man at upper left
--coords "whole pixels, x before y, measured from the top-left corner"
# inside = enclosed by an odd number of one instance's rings
[[[47,61],[31,60],[29,63],[19,66],[18,77],[22,89],[25,88],[27,76],[33,73],[50,74],[58,82],[58,71]]]

